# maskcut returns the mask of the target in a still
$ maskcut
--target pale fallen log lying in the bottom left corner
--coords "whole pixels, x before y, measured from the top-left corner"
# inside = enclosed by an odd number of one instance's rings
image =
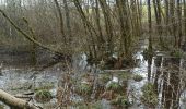
[[[0,89],[0,101],[15,109],[40,109],[40,107],[30,104],[26,100],[16,98],[2,89]]]

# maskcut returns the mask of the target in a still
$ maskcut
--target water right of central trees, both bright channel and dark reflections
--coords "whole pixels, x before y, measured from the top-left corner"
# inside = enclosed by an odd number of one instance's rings
[[[128,93],[130,100],[133,101],[131,109],[146,109],[141,102],[141,87],[148,82],[148,63],[143,60],[141,52],[147,48],[146,40],[141,43],[137,59],[140,60],[139,66],[131,70],[133,74],[144,77],[141,82],[130,80],[128,82]],[[152,58],[150,82],[154,84],[158,93],[158,105],[155,109],[186,109],[185,85],[185,59],[170,57],[167,52],[156,51]],[[133,97],[135,96],[135,97]]]

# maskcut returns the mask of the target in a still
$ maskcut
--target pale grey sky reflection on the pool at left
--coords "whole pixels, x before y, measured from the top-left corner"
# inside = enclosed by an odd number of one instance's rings
[[[58,73],[51,71],[44,71],[35,75],[35,72],[10,69],[2,70],[2,73],[3,76],[0,76],[0,89],[11,93],[25,92],[24,87],[27,88],[30,85],[39,87],[45,84],[54,84],[56,86],[58,80]],[[33,74],[35,75],[34,78],[30,78]]]

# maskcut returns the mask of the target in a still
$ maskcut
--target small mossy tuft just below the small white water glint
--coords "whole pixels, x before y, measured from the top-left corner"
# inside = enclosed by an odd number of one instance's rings
[[[107,86],[106,86],[106,90],[113,90],[114,93],[121,93],[121,86],[119,85],[119,83],[116,82],[111,82]]]

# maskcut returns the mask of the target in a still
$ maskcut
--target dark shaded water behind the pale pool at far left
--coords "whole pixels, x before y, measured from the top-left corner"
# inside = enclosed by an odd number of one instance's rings
[[[31,68],[33,65],[32,55],[30,46],[0,46],[0,63],[4,68]],[[44,65],[54,60],[54,55],[42,48],[36,48],[35,57],[36,65]]]

